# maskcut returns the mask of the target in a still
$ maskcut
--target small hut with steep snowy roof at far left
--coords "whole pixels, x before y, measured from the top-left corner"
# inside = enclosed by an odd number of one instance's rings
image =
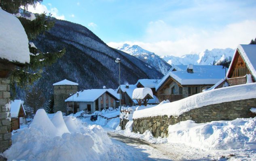
[[[11,131],[20,128],[20,124],[26,124],[26,113],[23,107],[23,101],[15,99],[11,101]]]

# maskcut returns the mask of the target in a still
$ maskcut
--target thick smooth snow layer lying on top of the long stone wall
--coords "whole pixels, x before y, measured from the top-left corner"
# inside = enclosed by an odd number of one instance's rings
[[[205,105],[251,98],[256,98],[256,83],[205,91],[179,101],[163,103],[148,109],[138,110],[133,113],[133,119],[164,115],[180,116],[184,112]]]

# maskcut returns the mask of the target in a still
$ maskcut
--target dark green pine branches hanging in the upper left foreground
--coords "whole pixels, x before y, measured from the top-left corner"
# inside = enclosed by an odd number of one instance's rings
[[[24,6],[27,9],[29,5],[36,6],[36,3],[41,3],[42,0],[0,0],[0,7],[13,14],[19,12],[20,6]],[[23,11],[22,14],[30,14],[29,12]],[[31,21],[23,16],[18,16],[19,21],[23,25],[28,39],[31,41],[36,38],[39,34],[43,34],[45,31],[51,29],[54,26],[54,19],[51,15],[47,16],[46,13],[36,14],[36,19]],[[65,48],[59,52],[44,53],[34,46],[29,45],[30,48],[30,64],[23,64],[13,70],[10,76],[11,80],[11,91],[13,97],[15,97],[16,87],[26,87],[32,85],[32,83],[40,78],[42,69],[44,66],[50,66],[61,58],[66,52]]]

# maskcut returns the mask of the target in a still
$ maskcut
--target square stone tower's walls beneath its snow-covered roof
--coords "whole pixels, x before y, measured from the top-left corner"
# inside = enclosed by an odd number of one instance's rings
[[[67,113],[65,99],[70,97],[70,93],[75,94],[78,86],[76,85],[55,85],[54,87],[54,110]],[[76,97],[76,95],[74,95]]]

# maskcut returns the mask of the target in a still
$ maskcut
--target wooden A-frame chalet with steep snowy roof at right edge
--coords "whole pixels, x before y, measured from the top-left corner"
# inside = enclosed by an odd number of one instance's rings
[[[226,73],[226,78],[211,89],[241,85],[256,81],[256,45],[238,45]]]

